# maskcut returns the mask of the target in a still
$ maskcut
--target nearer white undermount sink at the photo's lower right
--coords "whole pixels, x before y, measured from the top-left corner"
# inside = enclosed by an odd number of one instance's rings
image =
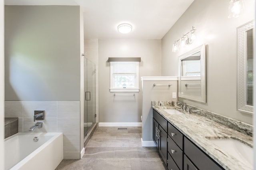
[[[253,168],[253,148],[236,139],[208,139],[222,150]]]

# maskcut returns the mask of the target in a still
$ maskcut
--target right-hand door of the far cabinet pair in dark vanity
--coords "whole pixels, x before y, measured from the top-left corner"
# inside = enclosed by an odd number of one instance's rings
[[[159,125],[159,153],[162,156],[165,165],[167,166],[167,133]]]

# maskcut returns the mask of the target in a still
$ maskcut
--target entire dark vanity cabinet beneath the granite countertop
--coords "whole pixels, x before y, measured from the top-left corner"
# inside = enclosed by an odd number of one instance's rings
[[[168,170],[223,170],[154,109],[153,140]]]

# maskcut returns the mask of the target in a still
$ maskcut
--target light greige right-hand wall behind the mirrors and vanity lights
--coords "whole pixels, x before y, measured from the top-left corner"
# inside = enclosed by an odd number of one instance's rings
[[[162,76],[177,76],[178,56],[205,43],[207,103],[178,100],[252,124],[252,115],[236,110],[236,28],[254,19],[254,1],[244,2],[244,14],[228,19],[229,1],[195,0],[162,39]],[[196,42],[172,53],[174,41],[192,26],[196,28]]]

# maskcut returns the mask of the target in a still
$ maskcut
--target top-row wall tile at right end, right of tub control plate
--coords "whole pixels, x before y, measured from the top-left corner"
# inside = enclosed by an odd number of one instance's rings
[[[80,101],[58,101],[58,118],[80,118]]]

